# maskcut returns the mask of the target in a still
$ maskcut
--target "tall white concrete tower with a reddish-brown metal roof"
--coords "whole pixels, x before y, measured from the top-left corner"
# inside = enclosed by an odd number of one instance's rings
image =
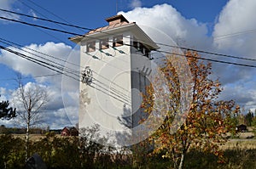
[[[80,45],[79,128],[98,124],[114,144],[129,145],[145,117],[140,93],[149,84],[150,52],[159,47],[123,15],[106,20],[107,26],[70,38]]]

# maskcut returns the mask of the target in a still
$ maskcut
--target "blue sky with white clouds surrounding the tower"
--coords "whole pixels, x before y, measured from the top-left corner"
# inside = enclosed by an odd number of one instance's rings
[[[256,33],[248,31],[256,28],[256,20],[253,19],[256,13],[255,7],[254,0],[244,0],[242,2],[239,0],[118,0],[118,8],[116,8],[115,0],[65,2],[61,0],[1,0],[0,2],[0,8],[88,28],[106,25],[107,22],[104,19],[115,15],[116,9],[118,9],[118,13],[124,14],[128,20],[163,31],[181,46],[222,54],[234,54],[252,59],[256,59],[256,49],[253,45],[256,41],[254,40],[256,39],[254,38]],[[3,12],[0,12],[0,16],[79,34],[86,32]],[[73,37],[72,35],[42,30],[5,20],[0,20],[0,30],[0,37],[3,39],[52,54],[61,59],[78,60],[78,48],[75,48],[75,44],[67,39]],[[241,34],[234,36],[236,32],[241,32]],[[232,34],[232,36],[224,37],[224,35],[229,34]],[[20,72],[23,76],[28,77],[54,73],[39,65],[32,65],[11,54],[4,53],[2,50],[0,51],[2,99],[11,99],[11,93],[15,90],[16,84],[8,79],[15,78],[15,72]],[[223,58],[217,57],[215,59]],[[242,62],[236,59],[224,60]],[[253,62],[242,63],[254,64]],[[256,108],[255,69],[213,64],[213,71],[213,76],[220,79],[224,91],[226,91],[222,94],[221,99],[235,99],[245,109]],[[70,122],[70,119],[77,121],[76,113],[68,115],[67,112],[77,110],[78,104],[74,100],[78,99],[76,89],[78,84],[71,80],[66,79],[66,81],[73,84],[73,87],[71,87],[72,85],[66,87],[67,91],[65,92],[67,93],[65,95],[68,97],[64,99],[63,104],[62,95],[60,94],[61,90],[63,91],[61,76],[25,79],[25,83],[47,84],[50,93],[55,94],[52,102],[54,104],[49,105],[51,113],[49,112],[48,115],[50,120],[44,125],[55,128],[72,125],[73,122]],[[10,125],[11,121],[5,121],[5,123]]]

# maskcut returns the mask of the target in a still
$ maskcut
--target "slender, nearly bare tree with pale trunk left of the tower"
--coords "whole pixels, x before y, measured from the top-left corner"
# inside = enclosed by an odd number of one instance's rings
[[[18,89],[13,94],[13,102],[17,108],[17,120],[21,126],[26,126],[26,160],[29,157],[29,138],[31,127],[39,125],[43,120],[42,110],[49,101],[49,94],[45,87],[21,81],[17,77]]]

